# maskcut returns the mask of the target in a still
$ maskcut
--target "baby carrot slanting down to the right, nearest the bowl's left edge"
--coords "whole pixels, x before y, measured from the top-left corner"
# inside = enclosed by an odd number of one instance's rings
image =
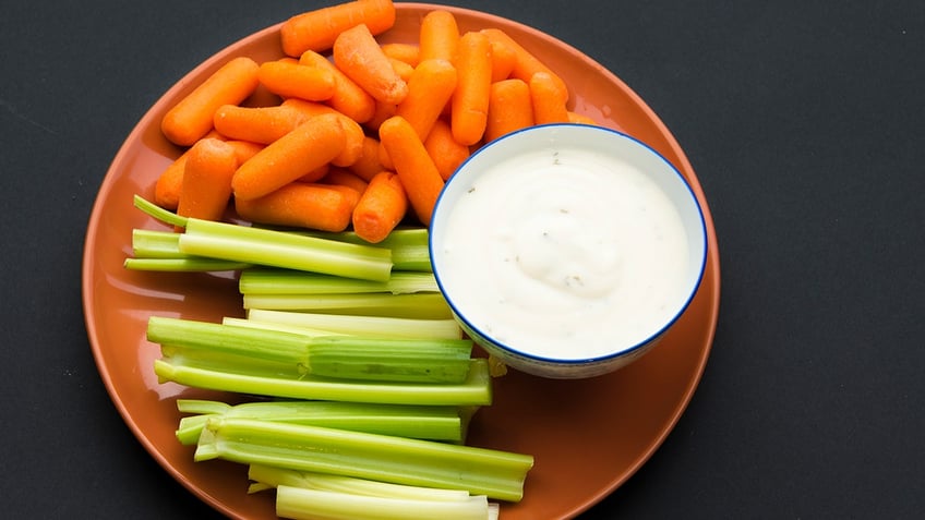
[[[379,134],[401,179],[411,208],[421,223],[429,226],[433,207],[443,190],[443,178],[436,166],[405,118],[395,116],[387,119],[380,126]]]

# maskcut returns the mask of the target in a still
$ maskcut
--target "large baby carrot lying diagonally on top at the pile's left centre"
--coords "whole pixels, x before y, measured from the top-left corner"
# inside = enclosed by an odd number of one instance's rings
[[[344,126],[335,114],[309,119],[268,144],[235,172],[235,197],[262,197],[319,168],[344,150]]]

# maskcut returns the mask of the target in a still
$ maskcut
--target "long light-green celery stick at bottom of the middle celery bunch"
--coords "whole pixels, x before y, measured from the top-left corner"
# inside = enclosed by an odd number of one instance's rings
[[[172,359],[154,361],[161,383],[254,396],[329,401],[380,402],[420,406],[488,406],[492,401],[491,376],[484,359],[469,361],[469,375],[459,384],[370,383],[337,380],[312,375],[247,375],[183,364]]]

